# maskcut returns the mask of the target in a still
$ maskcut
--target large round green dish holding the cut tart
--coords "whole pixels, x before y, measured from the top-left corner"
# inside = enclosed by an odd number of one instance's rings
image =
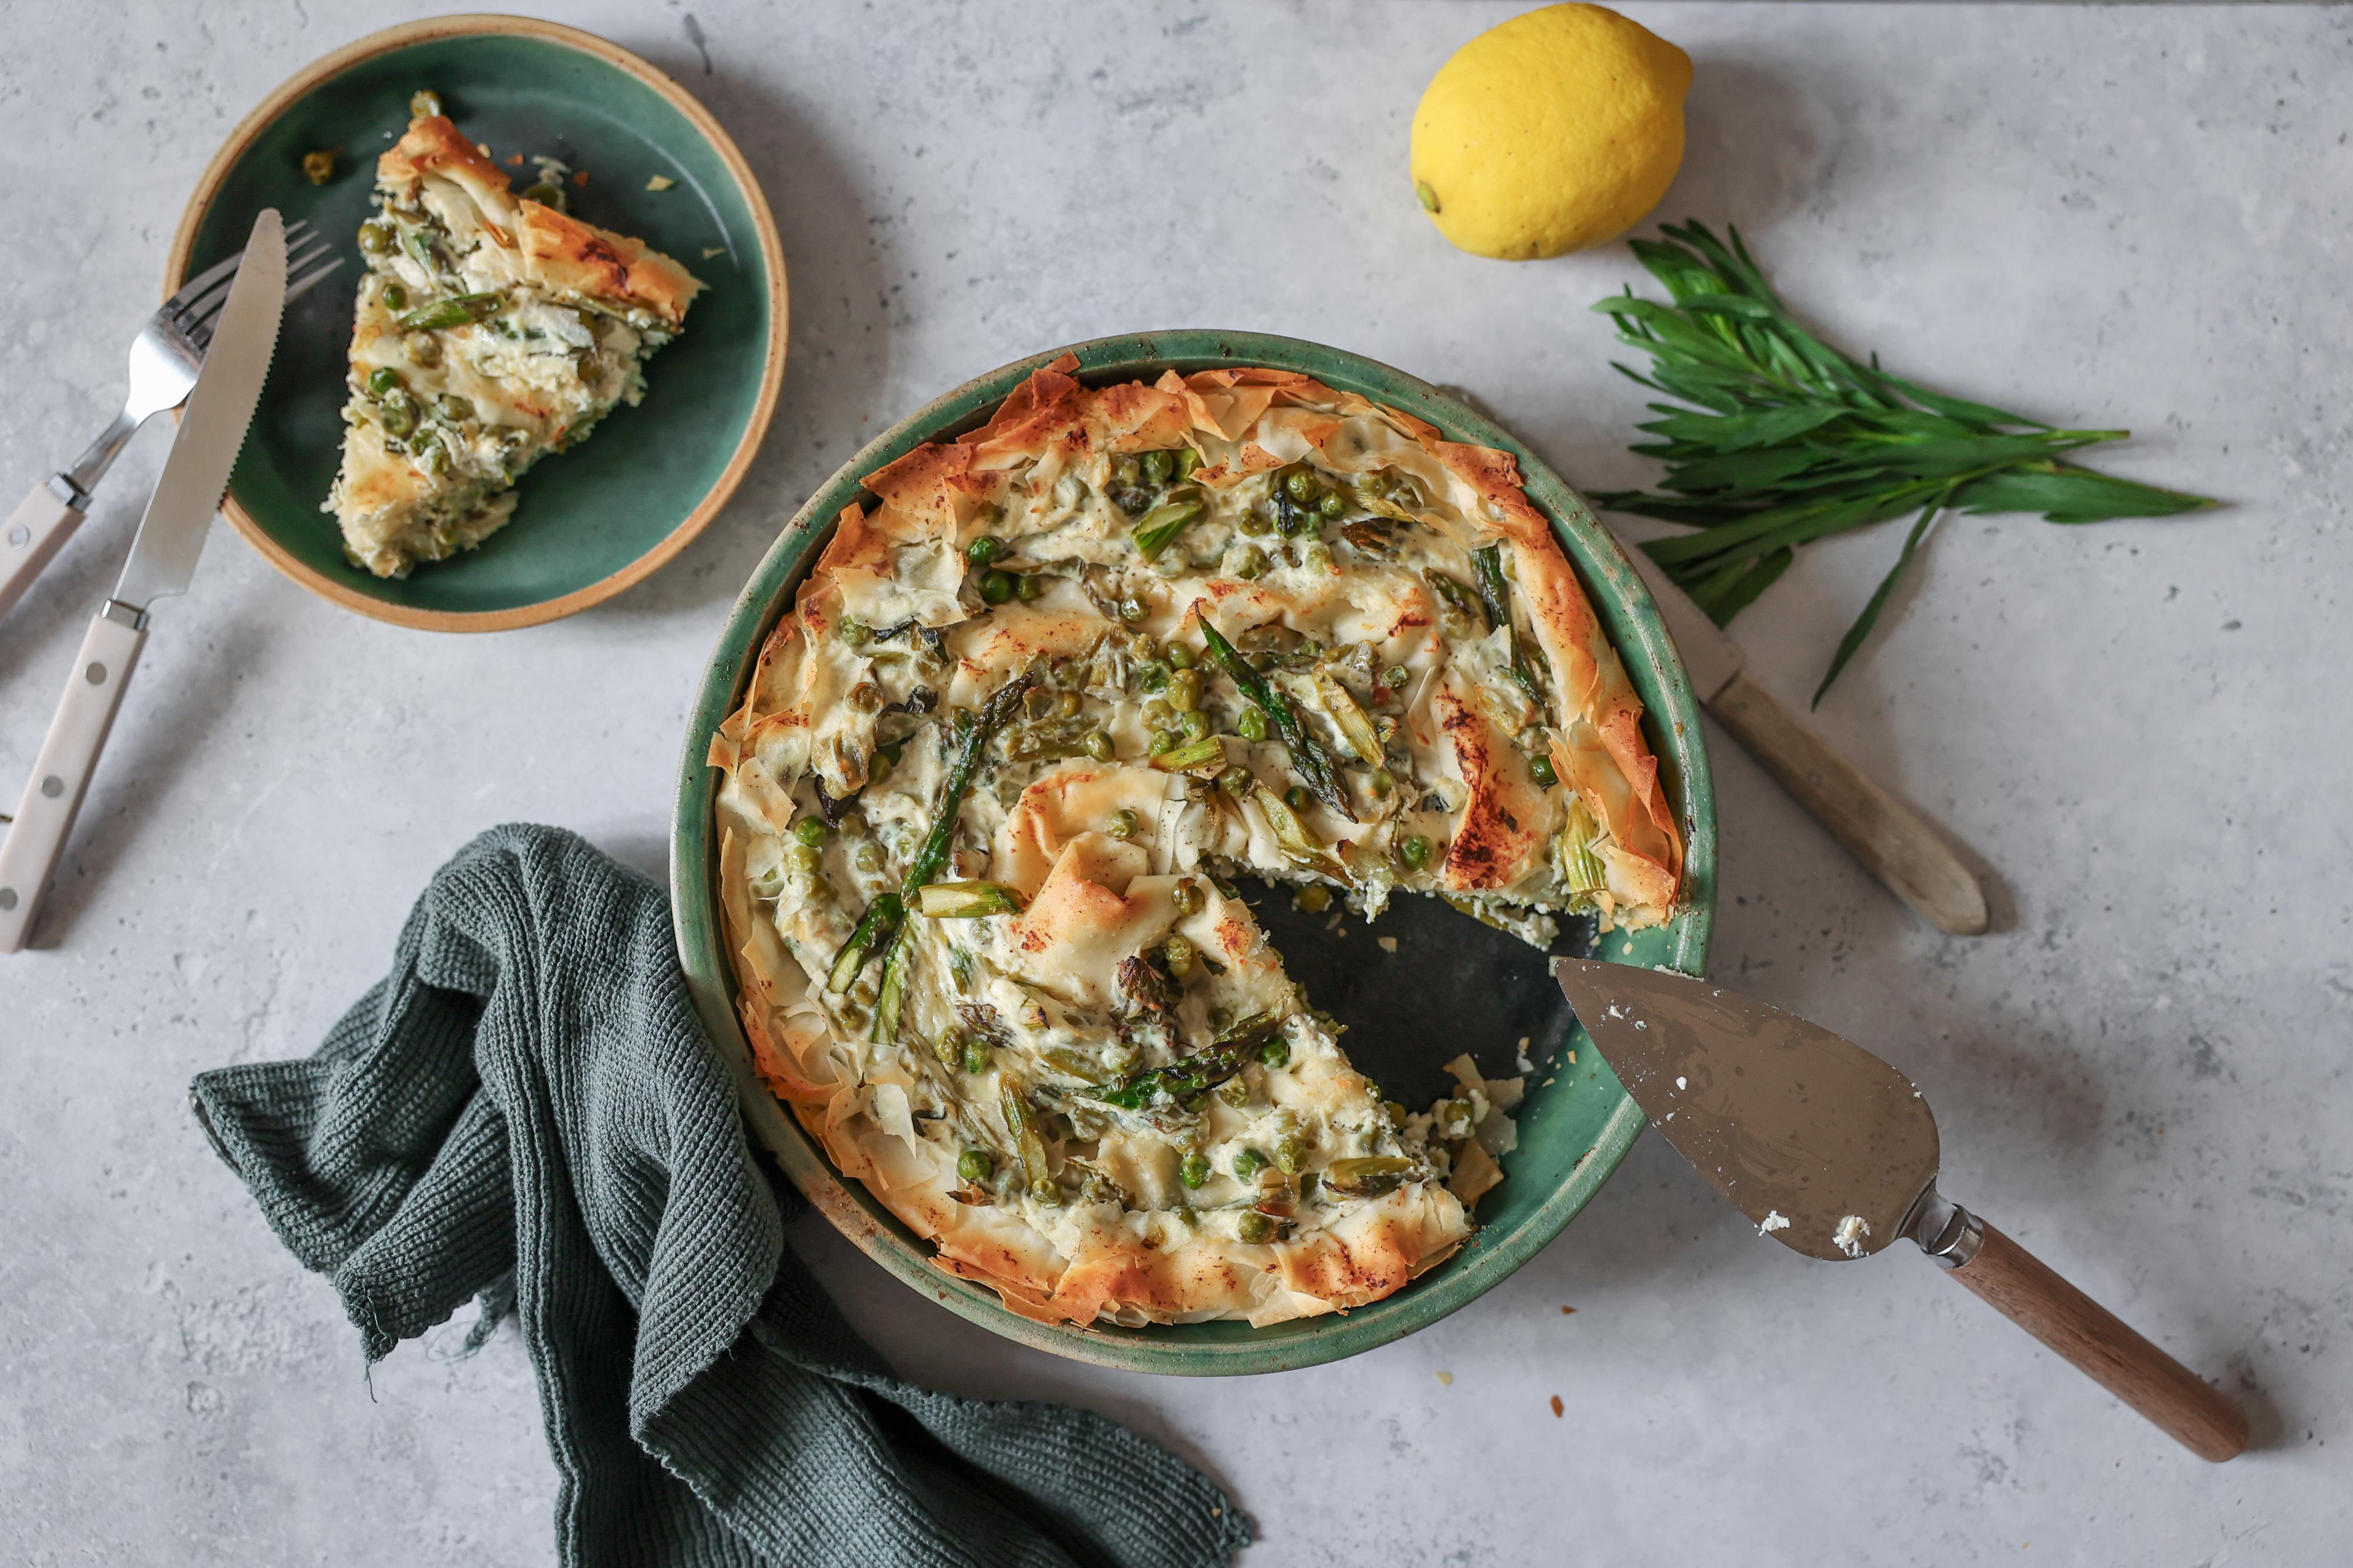
[[[986,423],[1014,386],[1059,353],[1075,353],[1080,374],[1096,383],[1155,378],[1165,369],[1195,371],[1219,364],[1297,369],[1426,418],[1452,440],[1511,451],[1520,461],[1529,501],[1551,517],[1602,625],[1626,658],[1626,672],[1647,708],[1642,726],[1659,755],[1666,792],[1689,837],[1685,858],[1689,889],[1682,912],[1654,931],[1621,931],[1602,938],[1600,957],[1687,973],[1701,971],[1715,910],[1715,802],[1708,785],[1708,757],[1699,738],[1699,705],[1642,581],[1626,564],[1617,543],[1551,468],[1426,381],[1337,348],[1249,331],[1155,331],[1099,339],[1007,364],[899,421],[800,508],[736,599],[694,701],[671,830],[671,903],[678,922],[678,952],[711,1037],[720,1041],[722,1053],[736,1067],[744,1107],[758,1138],[774,1150],[793,1182],[868,1258],[951,1312],[1038,1349],[1146,1373],[1268,1373],[1334,1361],[1435,1324],[1501,1284],[1586,1206],[1642,1128],[1642,1112],[1609,1074],[1600,1053],[1586,1048],[1574,1020],[1560,1006],[1560,994],[1544,973],[1541,959],[1525,945],[1501,938],[1501,950],[1489,947],[1485,943],[1492,933],[1424,898],[1400,898],[1391,914],[1381,917],[1384,933],[1400,931],[1400,924],[1391,922],[1402,922],[1400,950],[1428,976],[1419,987],[1428,997],[1419,1006],[1405,1009],[1409,1027],[1402,1030],[1402,1044],[1414,1051],[1419,1072],[1435,1079],[1438,1063],[1461,1051],[1475,1051],[1487,1072],[1508,1072],[1520,1034],[1532,1037],[1529,1051],[1539,1058],[1548,1058],[1560,1046],[1579,1048],[1579,1065],[1569,1067],[1562,1060],[1560,1067],[1537,1074],[1537,1079],[1551,1077],[1548,1086],[1529,1081],[1520,1112],[1520,1147],[1504,1159],[1504,1185],[1480,1204],[1478,1234],[1454,1258],[1369,1307],[1273,1328],[1249,1328],[1247,1324],[1073,1328],[1033,1324],[1007,1312],[991,1291],[932,1267],[929,1244],[918,1241],[861,1185],[842,1182],[835,1175],[793,1117],[753,1079],[751,1051],[736,1025],[734,971],[720,943],[715,896],[718,835],[713,832],[711,804],[718,776],[704,764],[704,745],[720,719],[741,701],[753,658],[767,630],[791,607],[802,571],[816,559],[831,534],[833,517],[849,501],[873,503],[873,496],[859,487],[859,475],[873,473],[922,442]],[[1334,952],[1327,950],[1348,947],[1348,940],[1318,943],[1313,952],[1301,947],[1304,933],[1299,933],[1297,922],[1285,919],[1280,903],[1264,898],[1259,907],[1292,971],[1313,987],[1318,1004],[1358,1025],[1348,1037],[1351,1053],[1384,1084],[1395,1084],[1395,1093],[1405,1098],[1405,1079],[1393,1077],[1405,1072],[1398,1065],[1400,1030],[1391,1030],[1384,1041],[1377,980],[1367,978],[1365,969],[1355,973],[1334,969]],[[1478,943],[1466,945],[1459,933],[1478,933]],[[1313,936],[1306,940],[1313,943]],[[1424,940],[1433,947],[1426,947]],[[1362,938],[1355,938],[1353,950],[1374,952],[1372,943]],[[1468,952],[1482,957],[1466,959]],[[1393,961],[1386,969],[1393,978],[1402,966]],[[1327,985],[1339,990],[1327,990]],[[1449,997],[1468,999],[1471,1011],[1457,1011]],[[1457,1023],[1461,1018],[1480,1020],[1478,1039],[1461,1030]],[[1388,1060],[1367,1058],[1360,1048],[1362,1034],[1372,1034],[1369,1044],[1381,1048]]]

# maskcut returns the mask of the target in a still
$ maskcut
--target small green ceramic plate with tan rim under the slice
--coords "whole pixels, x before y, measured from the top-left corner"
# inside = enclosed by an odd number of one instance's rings
[[[506,165],[548,153],[588,183],[572,212],[638,235],[708,287],[687,331],[647,364],[647,397],[576,451],[525,475],[515,520],[480,550],[379,581],[344,562],[320,512],[344,435],[358,228],[376,155],[431,87]],[[311,186],[304,153],[336,148]],[[513,169],[529,179],[529,165]],[[661,174],[675,186],[647,190]],[[522,183],[522,181],[518,181]],[[245,242],[254,214],[308,219],[346,266],[287,310],[261,407],[221,508],[287,576],[336,604],[431,630],[553,621],[678,555],[751,463],[784,378],[784,249],[727,132],[678,82],[600,38],[520,16],[442,16],[329,54],[240,125],[198,181],[165,292]],[[715,254],[713,254],[715,252]]]

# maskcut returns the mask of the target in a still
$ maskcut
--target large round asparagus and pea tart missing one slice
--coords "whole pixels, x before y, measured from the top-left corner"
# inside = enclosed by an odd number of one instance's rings
[[[1659,924],[1642,708],[1506,454],[1287,371],[1075,369],[866,477],[711,743],[746,1037],[1016,1312],[1379,1300],[1504,1180],[1520,1081],[1388,1103],[1228,877]]]

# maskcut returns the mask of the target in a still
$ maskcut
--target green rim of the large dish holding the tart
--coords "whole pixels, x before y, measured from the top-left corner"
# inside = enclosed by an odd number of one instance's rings
[[[800,1124],[760,1084],[751,1070],[751,1046],[734,1013],[734,969],[720,943],[722,914],[713,877],[718,863],[718,835],[711,816],[715,773],[704,759],[711,731],[739,705],[753,658],[769,628],[791,607],[791,595],[805,567],[814,562],[816,550],[831,534],[833,517],[849,498],[873,501],[859,487],[856,477],[873,473],[922,440],[974,428],[1019,381],[1064,353],[1078,355],[1080,374],[1087,381],[1155,376],[1169,364],[1179,369],[1207,369],[1212,364],[1299,369],[1325,378],[1329,386],[1360,390],[1379,402],[1405,407],[1409,414],[1440,425],[1452,440],[1511,451],[1520,463],[1529,498],[1546,512],[1555,536],[1569,548],[1572,562],[1579,567],[1579,578],[1588,590],[1595,590],[1595,609],[1605,625],[1617,621],[1614,642],[1628,663],[1635,689],[1645,696],[1645,731],[1661,757],[1661,771],[1668,776],[1671,792],[1678,795],[1678,809],[1685,818],[1689,839],[1685,856],[1687,900],[1664,931],[1640,936],[1652,938],[1652,945],[1664,938],[1668,950],[1659,954],[1661,966],[1685,973],[1704,971],[1715,914],[1715,802],[1706,743],[1699,729],[1699,703],[1692,696],[1682,661],[1666,625],[1659,621],[1649,592],[1617,541],[1560,475],[1489,418],[1457,397],[1440,393],[1435,386],[1362,355],[1301,339],[1207,329],[1094,339],[988,371],[953,393],[934,397],[878,435],[866,449],[842,463],[812,494],[807,505],[793,515],[736,597],[689,715],[671,823],[671,912],[678,929],[680,961],[685,964],[694,1006],[736,1074],[753,1135],[769,1147],[786,1168],[786,1175],[793,1178],[793,1185],[861,1253],[911,1288],[934,1298],[958,1316],[1021,1345],[1125,1371],[1235,1375],[1337,1361],[1435,1324],[1499,1286],[1513,1269],[1534,1258],[1584,1208],[1593,1192],[1617,1171],[1626,1150],[1633,1147],[1635,1135],[1642,1131],[1642,1112],[1633,1098],[1624,1088],[1617,1091],[1614,1110],[1591,1152],[1544,1206],[1525,1215],[1511,1234],[1497,1237],[1494,1227],[1485,1227],[1478,1232],[1482,1239],[1480,1246],[1466,1248],[1424,1279],[1367,1307],[1278,1324],[1219,1342],[1198,1342],[1186,1338],[1188,1326],[1139,1331],[1035,1324],[1009,1312],[993,1291],[944,1274],[929,1262],[929,1244],[918,1241],[859,1182],[842,1180],[824,1152],[802,1133]],[[1621,938],[1605,938],[1605,947],[1614,940]],[[1605,957],[1609,954],[1605,952]],[[1600,1060],[1598,1053],[1593,1060]],[[1600,1074],[1607,1077],[1607,1065],[1600,1067]],[[1607,1079],[1607,1084],[1614,1086],[1614,1079]]]

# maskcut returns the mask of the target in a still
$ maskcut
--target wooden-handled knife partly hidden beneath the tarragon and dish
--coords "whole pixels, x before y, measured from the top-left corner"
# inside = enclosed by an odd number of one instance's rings
[[[1969,867],[1946,849],[1937,830],[1871,783],[1861,769],[1833,752],[1798,715],[1753,682],[1741,644],[1708,621],[1708,611],[1675,588],[1647,550],[1628,541],[1619,543],[1659,604],[1659,618],[1675,637],[1682,668],[1692,677],[1692,691],[1732,731],[1732,738],[1922,919],[1953,936],[1984,933],[1991,924],[1986,891]]]

